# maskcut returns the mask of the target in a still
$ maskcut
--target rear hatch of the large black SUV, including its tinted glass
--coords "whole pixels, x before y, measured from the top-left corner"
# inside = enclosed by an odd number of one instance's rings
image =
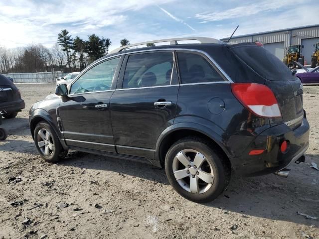
[[[249,82],[268,86],[276,96],[284,122],[292,128],[298,127],[304,114],[301,81],[293,76],[291,70],[280,59],[262,46],[241,43],[229,48],[241,63],[257,73],[258,79],[249,79]]]

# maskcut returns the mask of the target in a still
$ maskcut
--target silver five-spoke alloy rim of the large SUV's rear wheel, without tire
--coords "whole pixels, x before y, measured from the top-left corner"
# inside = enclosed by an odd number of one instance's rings
[[[172,169],[178,184],[190,193],[205,193],[214,182],[211,163],[201,152],[193,149],[179,151],[173,159]]]

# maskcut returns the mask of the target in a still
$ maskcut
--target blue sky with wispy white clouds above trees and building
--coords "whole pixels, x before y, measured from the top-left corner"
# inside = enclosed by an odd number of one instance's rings
[[[0,47],[53,46],[67,29],[84,40],[110,38],[110,50],[173,37],[224,38],[319,24],[318,0],[0,0]]]

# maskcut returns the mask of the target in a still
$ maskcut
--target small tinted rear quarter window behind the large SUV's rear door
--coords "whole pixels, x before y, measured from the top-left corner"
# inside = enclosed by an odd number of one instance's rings
[[[177,59],[182,84],[224,81],[201,55],[178,52]]]

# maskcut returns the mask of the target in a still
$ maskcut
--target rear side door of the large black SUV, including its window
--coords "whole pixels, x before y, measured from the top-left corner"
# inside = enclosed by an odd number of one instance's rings
[[[111,98],[117,152],[154,159],[160,133],[176,114],[178,80],[173,51],[126,56]]]

